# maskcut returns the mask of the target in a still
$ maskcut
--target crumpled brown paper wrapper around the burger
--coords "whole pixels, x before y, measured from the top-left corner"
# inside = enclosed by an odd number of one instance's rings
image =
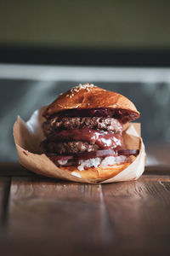
[[[47,107],[45,106],[36,110],[32,114],[31,119],[26,123],[20,117],[18,117],[14,123],[14,143],[17,148],[20,164],[26,167],[26,169],[43,176],[81,183],[94,183],[89,179],[77,177],[77,173],[75,172],[60,170],[45,154],[38,154],[39,144],[44,139],[41,125],[45,120],[42,117],[42,112],[45,108]],[[122,172],[101,183],[135,180],[144,172],[145,151],[144,143],[140,137],[140,124],[131,123],[125,125],[123,137],[128,149],[139,148],[139,155],[137,157],[132,156],[132,164]]]

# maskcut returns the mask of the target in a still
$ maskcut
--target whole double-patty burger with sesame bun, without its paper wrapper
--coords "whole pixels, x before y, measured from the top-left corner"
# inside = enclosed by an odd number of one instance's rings
[[[129,166],[139,149],[125,148],[123,125],[139,118],[132,102],[94,84],[79,84],[43,113],[42,153],[65,172],[102,181]]]

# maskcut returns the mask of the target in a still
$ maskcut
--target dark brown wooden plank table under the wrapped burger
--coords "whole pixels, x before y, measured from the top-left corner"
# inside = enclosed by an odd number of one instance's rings
[[[167,255],[170,167],[138,181],[70,183],[0,167],[0,255]]]

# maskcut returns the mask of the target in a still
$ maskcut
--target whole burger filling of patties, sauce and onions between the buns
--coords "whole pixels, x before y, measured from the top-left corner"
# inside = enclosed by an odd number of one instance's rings
[[[48,117],[42,124],[46,139],[41,151],[57,166],[77,166],[79,171],[128,162],[139,150],[123,149],[123,116],[104,110],[73,109]]]

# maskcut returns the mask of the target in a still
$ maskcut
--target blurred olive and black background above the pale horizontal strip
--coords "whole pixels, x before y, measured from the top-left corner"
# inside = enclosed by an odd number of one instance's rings
[[[170,66],[170,2],[0,1],[0,61]]]

